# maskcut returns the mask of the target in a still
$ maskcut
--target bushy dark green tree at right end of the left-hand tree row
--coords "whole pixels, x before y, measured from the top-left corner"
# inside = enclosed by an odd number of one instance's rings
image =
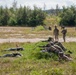
[[[32,11],[31,17],[30,17],[30,26],[37,26],[40,24],[43,24],[43,20],[45,19],[45,14],[44,12],[34,6],[34,10]]]

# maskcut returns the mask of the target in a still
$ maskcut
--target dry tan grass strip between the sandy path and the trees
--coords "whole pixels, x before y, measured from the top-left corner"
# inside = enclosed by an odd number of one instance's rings
[[[53,36],[52,30],[45,30],[36,27],[34,30],[31,27],[0,27],[0,38],[46,38]],[[61,34],[61,28],[58,27]],[[76,37],[76,30],[74,27],[67,27],[67,36]]]

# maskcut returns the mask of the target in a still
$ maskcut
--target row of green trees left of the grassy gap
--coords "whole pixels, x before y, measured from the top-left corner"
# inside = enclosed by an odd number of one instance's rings
[[[7,6],[3,8],[0,6],[0,26],[37,26],[43,24],[46,18],[42,9],[34,6],[30,7],[16,7],[16,3],[10,8]]]

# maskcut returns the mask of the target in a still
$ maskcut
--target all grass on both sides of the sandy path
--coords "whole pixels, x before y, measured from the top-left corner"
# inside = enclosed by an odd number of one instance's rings
[[[61,28],[58,27],[61,34]],[[0,38],[47,38],[53,36],[52,30],[45,30],[38,26],[34,30],[31,27],[0,27]],[[68,37],[76,37],[75,28],[67,28]],[[58,61],[56,55],[49,56],[48,53],[40,53],[39,45],[45,45],[44,42],[37,43],[2,43],[0,44],[0,55],[13,53],[13,51],[3,51],[13,48],[18,44],[24,48],[20,51],[22,57],[0,58],[0,75],[76,75],[76,42],[63,43],[67,50],[71,50],[73,61]],[[17,51],[15,51],[17,52]]]

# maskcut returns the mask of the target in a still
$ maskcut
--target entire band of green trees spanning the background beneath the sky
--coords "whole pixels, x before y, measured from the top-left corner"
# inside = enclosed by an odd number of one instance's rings
[[[64,7],[60,9],[58,4],[56,9],[42,10],[34,6],[32,10],[29,6],[20,6],[17,8],[17,2],[14,0],[12,7],[4,8],[0,6],[0,26],[38,26],[45,25],[44,20],[48,15],[59,17],[60,26],[76,26],[76,6]],[[56,18],[54,17],[54,18]],[[51,22],[51,20],[50,20]]]

